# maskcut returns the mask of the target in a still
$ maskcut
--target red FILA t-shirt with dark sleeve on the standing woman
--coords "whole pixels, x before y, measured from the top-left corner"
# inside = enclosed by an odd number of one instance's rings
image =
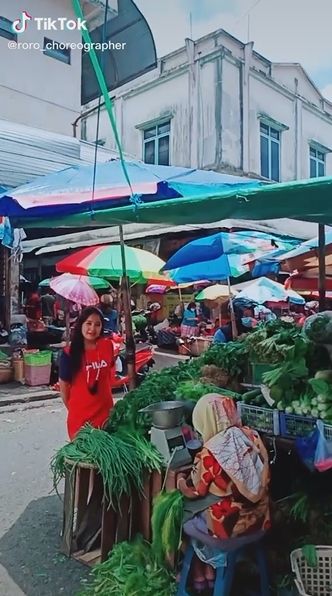
[[[112,381],[115,374],[114,351],[110,339],[101,338],[93,350],[86,350],[79,372],[72,379],[71,358],[66,348],[60,359],[59,378],[71,384],[68,400],[67,428],[72,440],[90,423],[101,428],[113,407]],[[97,382],[96,392],[92,393]]]

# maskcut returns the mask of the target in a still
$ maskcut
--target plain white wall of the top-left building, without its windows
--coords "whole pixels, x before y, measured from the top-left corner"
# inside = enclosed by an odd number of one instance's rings
[[[0,16],[11,21],[21,7],[33,17],[75,18],[70,0],[26,0],[24,6],[1,0]],[[57,42],[79,42],[79,31],[38,31],[28,23],[18,42],[39,43],[44,37]],[[71,50],[71,64],[46,56],[38,49],[9,49],[0,36],[0,118],[20,124],[72,135],[72,122],[80,113],[81,52]]]

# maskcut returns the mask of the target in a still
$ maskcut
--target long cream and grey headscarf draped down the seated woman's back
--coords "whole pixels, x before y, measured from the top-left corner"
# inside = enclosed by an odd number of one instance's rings
[[[193,424],[240,494],[257,503],[266,494],[269,459],[258,433],[240,427],[232,399],[209,393],[196,404]]]

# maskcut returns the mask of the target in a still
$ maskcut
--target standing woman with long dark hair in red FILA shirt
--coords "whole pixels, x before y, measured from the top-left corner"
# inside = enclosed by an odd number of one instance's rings
[[[69,348],[61,354],[60,391],[68,410],[71,440],[86,423],[101,428],[113,407],[114,351],[103,332],[102,313],[86,308],[77,320]]]

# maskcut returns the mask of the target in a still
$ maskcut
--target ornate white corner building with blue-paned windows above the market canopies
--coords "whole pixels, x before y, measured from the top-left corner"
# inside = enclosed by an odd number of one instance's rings
[[[277,181],[332,174],[332,103],[300,64],[272,63],[223,30],[187,39],[114,103],[124,150],[149,163]],[[95,130],[94,112],[82,137]],[[105,111],[100,137],[114,147]]]

